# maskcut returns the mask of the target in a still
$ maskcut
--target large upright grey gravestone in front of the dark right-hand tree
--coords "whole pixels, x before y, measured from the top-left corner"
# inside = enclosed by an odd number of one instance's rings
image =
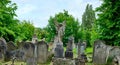
[[[107,57],[107,47],[101,40],[96,40],[94,42],[93,48],[93,63],[94,65],[103,65],[106,63]]]

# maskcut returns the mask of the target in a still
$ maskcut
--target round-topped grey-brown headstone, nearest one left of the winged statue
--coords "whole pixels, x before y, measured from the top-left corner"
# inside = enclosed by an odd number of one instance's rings
[[[48,45],[44,41],[39,41],[36,43],[37,46],[37,62],[45,63],[48,58]]]

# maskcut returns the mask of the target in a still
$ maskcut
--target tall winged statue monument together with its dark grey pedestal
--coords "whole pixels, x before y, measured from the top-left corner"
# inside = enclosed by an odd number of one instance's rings
[[[65,21],[63,21],[63,23],[58,23],[55,20],[54,23],[55,23],[56,33],[57,33],[54,39],[54,49],[53,49],[54,56],[56,58],[62,58],[64,53],[62,37],[65,31]]]

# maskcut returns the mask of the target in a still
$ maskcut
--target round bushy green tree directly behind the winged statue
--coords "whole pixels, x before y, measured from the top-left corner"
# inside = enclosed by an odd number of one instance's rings
[[[56,35],[56,29],[54,25],[54,20],[57,20],[58,23],[61,23],[63,21],[66,21],[66,27],[65,27],[65,33],[63,37],[63,43],[68,42],[69,36],[74,36],[75,42],[78,41],[78,30],[80,28],[78,19],[75,19],[72,15],[68,14],[68,11],[59,12],[58,14],[55,14],[54,17],[50,17],[49,24],[47,25],[47,31],[48,31],[48,41],[51,41],[54,39],[54,36]]]

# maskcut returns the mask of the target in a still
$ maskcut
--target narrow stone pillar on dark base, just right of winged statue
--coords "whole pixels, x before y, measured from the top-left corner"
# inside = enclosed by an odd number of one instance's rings
[[[74,38],[70,37],[67,43],[67,50],[65,51],[65,58],[73,58],[73,43]]]

